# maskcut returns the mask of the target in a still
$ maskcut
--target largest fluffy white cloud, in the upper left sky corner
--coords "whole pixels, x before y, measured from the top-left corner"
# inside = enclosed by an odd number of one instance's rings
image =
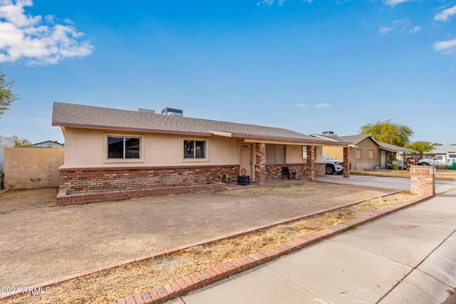
[[[83,33],[55,24],[55,17],[30,16],[24,6],[32,0],[0,0],[0,63],[24,59],[28,64],[56,64],[64,58],[88,56],[93,46]],[[43,19],[45,24],[43,24]]]

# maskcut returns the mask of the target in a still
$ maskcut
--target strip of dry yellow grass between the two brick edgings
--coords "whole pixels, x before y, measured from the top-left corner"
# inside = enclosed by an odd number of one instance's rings
[[[142,293],[149,288],[164,285],[224,261],[272,248],[313,231],[326,229],[415,197],[401,192],[363,201],[355,206],[326,212],[310,219],[264,229],[231,240],[218,241],[207,246],[192,247],[172,256],[133,263],[68,281],[51,288],[46,294],[17,295],[2,303],[108,303],[110,300]]]

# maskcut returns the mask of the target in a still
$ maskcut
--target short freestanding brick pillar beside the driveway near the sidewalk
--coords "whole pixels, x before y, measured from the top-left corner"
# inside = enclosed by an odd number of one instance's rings
[[[435,195],[435,167],[410,167],[410,192],[417,195]]]

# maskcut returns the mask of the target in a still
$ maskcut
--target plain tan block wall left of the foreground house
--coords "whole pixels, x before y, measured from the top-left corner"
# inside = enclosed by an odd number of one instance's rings
[[[63,148],[5,148],[5,189],[58,187]]]

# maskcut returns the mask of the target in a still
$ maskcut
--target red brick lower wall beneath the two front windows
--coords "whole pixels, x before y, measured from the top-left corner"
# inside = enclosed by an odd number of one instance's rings
[[[239,165],[63,168],[59,171],[60,189],[73,194],[219,182],[223,173],[234,179],[239,174]]]

